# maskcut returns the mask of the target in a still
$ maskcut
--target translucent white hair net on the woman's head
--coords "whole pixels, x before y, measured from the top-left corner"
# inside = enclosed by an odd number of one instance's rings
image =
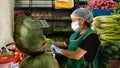
[[[93,22],[92,15],[86,8],[78,8],[74,10],[73,13],[71,14],[71,17],[83,18],[88,23]]]

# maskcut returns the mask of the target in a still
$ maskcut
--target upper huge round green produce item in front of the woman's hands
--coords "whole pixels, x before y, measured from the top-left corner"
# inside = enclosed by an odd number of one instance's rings
[[[20,51],[32,55],[50,50],[51,42],[45,41],[40,26],[39,22],[35,22],[26,15],[20,15],[16,18],[15,42]]]

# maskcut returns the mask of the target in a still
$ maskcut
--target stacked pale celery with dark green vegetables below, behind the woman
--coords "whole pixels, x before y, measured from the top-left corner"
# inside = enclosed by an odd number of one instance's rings
[[[120,14],[94,18],[93,28],[100,37],[103,53],[109,59],[120,59]]]

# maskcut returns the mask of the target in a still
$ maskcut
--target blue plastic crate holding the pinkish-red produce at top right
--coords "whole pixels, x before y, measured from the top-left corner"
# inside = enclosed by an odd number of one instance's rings
[[[111,13],[113,12],[112,9],[92,9],[91,11],[92,11],[93,17],[111,15]]]

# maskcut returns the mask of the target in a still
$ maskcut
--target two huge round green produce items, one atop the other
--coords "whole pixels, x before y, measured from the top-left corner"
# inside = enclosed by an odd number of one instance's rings
[[[51,55],[52,41],[46,41],[40,30],[40,23],[26,15],[20,15],[15,21],[15,42],[17,48],[27,54],[20,68],[59,68]]]

